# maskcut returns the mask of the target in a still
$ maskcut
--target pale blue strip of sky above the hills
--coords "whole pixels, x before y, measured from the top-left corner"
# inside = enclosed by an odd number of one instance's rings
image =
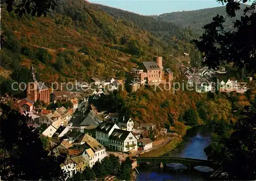
[[[174,11],[189,11],[222,6],[222,4],[219,4],[215,0],[89,0],[89,2],[143,15],[158,15]]]

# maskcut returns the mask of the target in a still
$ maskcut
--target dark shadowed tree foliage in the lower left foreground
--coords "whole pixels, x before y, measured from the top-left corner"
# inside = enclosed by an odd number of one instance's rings
[[[65,155],[55,157],[44,149],[38,132],[27,118],[7,105],[1,105],[0,169],[3,180],[64,180],[60,164]]]

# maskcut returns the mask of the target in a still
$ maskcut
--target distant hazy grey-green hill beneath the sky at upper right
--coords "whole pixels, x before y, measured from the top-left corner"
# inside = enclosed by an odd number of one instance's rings
[[[243,10],[245,9],[246,5],[242,4],[241,9],[237,12],[237,17],[243,15]],[[183,27],[183,28],[191,28],[195,33],[201,35],[203,33],[202,27],[206,24],[209,24],[212,21],[212,18],[215,17],[217,14],[223,15],[224,17],[227,16],[226,7],[216,7],[216,8],[207,8],[207,9],[200,9],[195,11],[182,11],[182,12],[172,12],[172,13],[164,13],[158,16],[151,16],[159,21],[169,21],[174,22],[175,24]],[[232,21],[236,18],[229,18],[227,17],[225,26],[228,29],[232,29]]]

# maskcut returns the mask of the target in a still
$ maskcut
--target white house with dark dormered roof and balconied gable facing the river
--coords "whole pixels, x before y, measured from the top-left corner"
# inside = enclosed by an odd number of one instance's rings
[[[120,152],[137,151],[137,139],[131,131],[114,129],[109,138],[109,146]]]

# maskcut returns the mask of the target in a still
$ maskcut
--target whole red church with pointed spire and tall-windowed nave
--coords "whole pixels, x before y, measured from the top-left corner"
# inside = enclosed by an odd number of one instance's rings
[[[27,98],[34,102],[38,99],[46,104],[50,103],[50,90],[43,82],[37,82],[33,65],[27,83]]]

